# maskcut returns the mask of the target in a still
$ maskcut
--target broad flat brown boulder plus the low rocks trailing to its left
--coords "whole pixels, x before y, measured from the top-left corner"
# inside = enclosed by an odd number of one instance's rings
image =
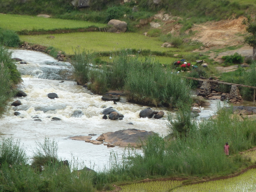
[[[92,140],[91,136],[72,136],[69,139],[73,140],[84,140],[85,142],[90,142],[94,145],[107,145],[107,147],[115,147],[118,146],[133,146],[140,147],[142,143],[149,137],[150,135],[154,135],[153,131],[146,130],[138,130],[138,129],[125,129],[118,130],[115,132],[107,132],[103,133],[96,140]]]

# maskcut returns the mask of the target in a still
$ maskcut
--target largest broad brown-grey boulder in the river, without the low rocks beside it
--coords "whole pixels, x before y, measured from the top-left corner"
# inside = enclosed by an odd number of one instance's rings
[[[108,142],[119,146],[141,146],[141,142],[147,140],[147,137],[154,135],[153,131],[138,130],[138,129],[125,129],[116,132],[107,132],[102,134],[104,142]]]

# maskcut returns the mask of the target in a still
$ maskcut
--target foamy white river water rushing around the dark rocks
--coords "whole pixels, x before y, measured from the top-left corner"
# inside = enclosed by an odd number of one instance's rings
[[[29,53],[29,54],[28,54]],[[38,55],[39,54],[39,55]],[[31,63],[56,61],[41,52],[15,50],[12,57],[18,57]],[[36,59],[33,59],[36,58]],[[40,58],[38,60],[38,58]],[[30,65],[30,64],[27,64]],[[28,66],[24,66],[28,67]],[[20,139],[24,144],[28,155],[32,156],[36,149],[36,142],[43,142],[45,137],[58,142],[59,157],[62,160],[71,161],[72,156],[84,161],[85,165],[94,166],[94,170],[101,170],[108,167],[110,152],[123,154],[123,147],[108,148],[105,145],[93,145],[78,140],[69,139],[70,136],[97,134],[92,139],[96,139],[100,134],[109,131],[117,131],[128,128],[154,131],[160,135],[167,135],[166,126],[167,109],[152,108],[155,111],[164,110],[162,119],[142,119],[139,117],[141,110],[147,106],[127,103],[125,98],[116,105],[113,102],[102,101],[100,95],[92,95],[80,85],[73,81],[48,80],[30,77],[23,77],[20,90],[26,92],[27,97],[12,98],[9,101],[9,110],[0,119],[0,133],[2,137],[13,137]],[[47,94],[55,92],[59,98],[50,99]],[[21,105],[11,106],[11,103],[19,99]],[[201,112],[201,117],[207,118],[213,115],[216,110],[216,101],[211,101],[210,107],[205,107]],[[113,107],[124,115],[123,120],[111,121],[102,119],[104,107]],[[81,110],[83,116],[72,117],[75,110]],[[19,111],[21,115],[14,116],[14,111]],[[44,112],[45,111],[45,112]],[[37,116],[42,121],[34,121]],[[59,117],[60,121],[52,121],[52,117]],[[132,122],[133,125],[128,124]],[[72,154],[72,155],[71,155]]]

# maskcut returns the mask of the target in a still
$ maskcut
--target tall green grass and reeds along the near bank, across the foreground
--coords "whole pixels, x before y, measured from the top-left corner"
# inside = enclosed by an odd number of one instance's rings
[[[140,151],[128,148],[129,152],[124,153],[121,159],[111,154],[110,168],[99,172],[86,171],[86,168],[78,171],[78,167],[85,166],[75,160],[69,162],[70,165],[64,163],[57,157],[57,143],[47,138],[44,143],[36,143],[32,165],[28,165],[28,156],[19,141],[3,139],[0,144],[0,187],[2,191],[95,192],[113,190],[113,183],[145,178],[187,178],[182,183],[171,182],[169,188],[163,184],[163,189],[170,190],[193,179],[230,175],[254,163],[238,152],[256,145],[256,121],[237,121],[235,116],[230,116],[231,113],[232,109],[223,108],[215,120],[195,123],[190,119],[190,129],[186,133],[180,133],[170,124],[169,140],[153,135]],[[177,121],[182,123],[183,120]],[[228,157],[223,152],[225,142],[230,145]],[[242,175],[230,180],[236,181],[240,177]],[[224,180],[226,182],[228,180]],[[221,187],[223,181],[217,183]],[[156,185],[158,183],[152,183],[152,187]],[[212,184],[189,185],[188,188],[201,185],[211,187]]]

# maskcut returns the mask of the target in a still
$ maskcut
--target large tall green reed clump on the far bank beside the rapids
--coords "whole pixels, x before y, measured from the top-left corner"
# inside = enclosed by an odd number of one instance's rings
[[[76,81],[82,85],[90,81],[88,88],[97,94],[109,89],[124,90],[128,101],[140,104],[178,107],[178,102],[191,103],[190,85],[182,76],[162,66],[154,57],[141,60],[131,53],[121,50],[110,56],[111,64],[94,69],[93,55],[76,50],[73,62]]]

